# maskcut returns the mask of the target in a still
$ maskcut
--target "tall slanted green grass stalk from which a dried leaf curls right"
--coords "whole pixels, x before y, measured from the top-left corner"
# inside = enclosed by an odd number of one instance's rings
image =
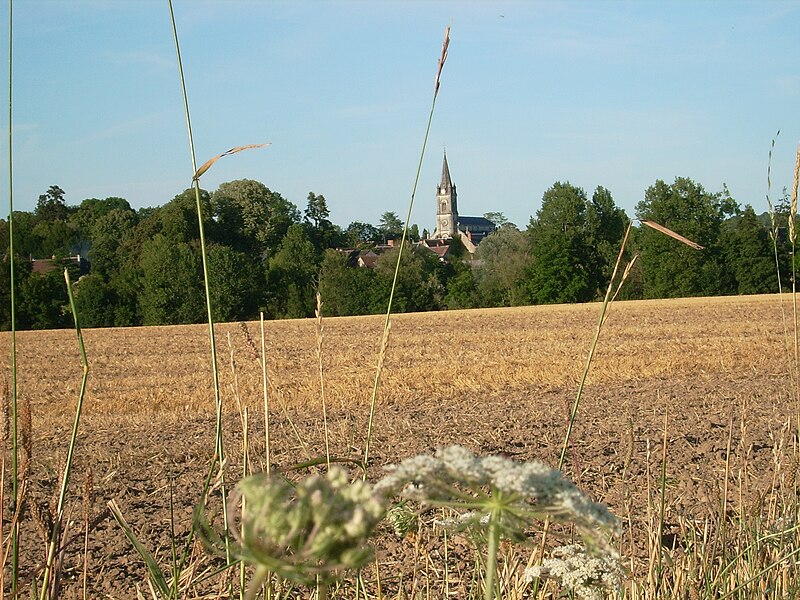
[[[197,169],[197,158],[196,153],[194,150],[194,136],[192,134],[192,120],[189,114],[189,97],[186,92],[186,78],[183,74],[183,61],[181,60],[181,49],[180,43],[178,41],[178,29],[175,23],[175,12],[172,9],[172,0],[167,0],[169,5],[169,14],[170,20],[172,22],[172,37],[175,42],[175,54],[178,61],[178,74],[180,76],[181,82],[181,92],[183,95],[183,108],[184,114],[186,116],[186,130],[189,138],[189,154],[191,156],[192,161],[192,182],[194,187],[195,193],[195,205],[197,208],[197,225],[199,227],[200,232],[200,256],[202,259],[203,264],[203,289],[205,291],[205,300],[206,300],[206,316],[208,320],[208,338],[210,343],[211,349],[211,373],[213,376],[213,385],[214,385],[214,404],[216,408],[216,428],[215,428],[215,459],[217,464],[220,467],[220,478],[221,478],[221,492],[222,492],[222,518],[223,518],[223,526],[225,529],[225,557],[228,564],[231,564],[231,554],[230,554],[230,544],[228,540],[228,505],[227,505],[227,493],[225,489],[225,474],[224,474],[224,467],[225,464],[225,448],[222,440],[222,397],[220,395],[220,388],[219,388],[219,368],[217,366],[217,347],[216,341],[214,339],[214,317],[211,312],[211,294],[210,294],[210,287],[209,287],[209,277],[208,277],[208,257],[206,253],[206,237],[205,237],[205,227],[203,226],[203,211],[202,206],[200,204],[200,178],[199,178],[199,171]],[[207,163],[208,164],[208,163]],[[210,166],[210,165],[209,165]],[[213,465],[212,465],[213,469]]]

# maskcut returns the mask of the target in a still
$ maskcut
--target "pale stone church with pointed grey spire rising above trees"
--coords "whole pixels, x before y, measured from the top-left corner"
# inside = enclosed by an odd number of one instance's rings
[[[450,167],[447,165],[447,153],[442,163],[442,179],[436,188],[436,229],[427,240],[423,240],[430,248],[449,245],[449,240],[458,238],[470,254],[475,247],[496,227],[484,217],[466,217],[458,214],[458,194],[453,180],[450,178]]]

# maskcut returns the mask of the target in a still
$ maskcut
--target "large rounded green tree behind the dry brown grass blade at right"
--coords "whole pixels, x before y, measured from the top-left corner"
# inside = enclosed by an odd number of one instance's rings
[[[730,293],[725,280],[719,235],[722,222],[736,211],[727,194],[711,194],[685,177],[668,185],[656,181],[636,207],[640,219],[659,223],[704,246],[698,251],[649,227],[640,227],[643,294],[646,298]]]

